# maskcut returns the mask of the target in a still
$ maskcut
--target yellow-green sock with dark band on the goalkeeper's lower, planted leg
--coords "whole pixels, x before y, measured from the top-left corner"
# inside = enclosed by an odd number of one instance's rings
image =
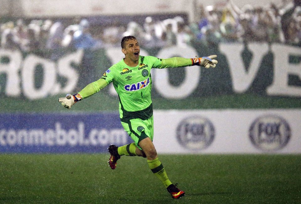
[[[166,171],[158,157],[154,160],[147,160],[147,163],[150,167],[150,170],[158,177],[158,179],[162,181],[166,188],[172,184],[172,182],[170,182],[168,179]]]

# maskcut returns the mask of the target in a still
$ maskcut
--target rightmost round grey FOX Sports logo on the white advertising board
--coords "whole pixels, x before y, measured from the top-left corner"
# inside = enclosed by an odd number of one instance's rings
[[[288,122],[280,116],[263,115],[251,124],[249,137],[257,149],[275,151],[288,144],[291,128]]]

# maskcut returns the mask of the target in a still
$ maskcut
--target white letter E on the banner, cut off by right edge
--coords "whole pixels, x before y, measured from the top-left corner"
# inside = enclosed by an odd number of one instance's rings
[[[301,65],[289,64],[288,57],[290,55],[301,56],[300,48],[275,44],[272,45],[274,53],[274,77],[272,85],[267,88],[269,95],[284,95],[284,96],[301,96],[300,86],[289,86],[288,76],[296,75],[301,79]]]

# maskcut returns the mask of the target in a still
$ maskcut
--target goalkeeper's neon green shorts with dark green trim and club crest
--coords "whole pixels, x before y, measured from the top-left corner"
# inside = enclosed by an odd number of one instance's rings
[[[139,118],[131,119],[128,121],[121,122],[121,124],[124,130],[135,141],[135,144],[139,149],[141,149],[141,147],[138,144],[142,139],[149,137],[151,141],[153,141],[154,116],[151,116],[146,120],[141,120]]]

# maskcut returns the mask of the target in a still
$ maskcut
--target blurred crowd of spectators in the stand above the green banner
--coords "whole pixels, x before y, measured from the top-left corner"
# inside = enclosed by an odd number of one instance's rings
[[[120,47],[123,36],[136,36],[144,47],[191,46],[195,42],[267,42],[301,45],[301,7],[299,0],[265,7],[238,8],[227,0],[223,8],[198,5],[193,22],[178,16],[143,24],[103,26],[87,19],[74,18],[70,24],[53,20],[23,19],[1,24],[1,48],[10,50],[99,49]]]

